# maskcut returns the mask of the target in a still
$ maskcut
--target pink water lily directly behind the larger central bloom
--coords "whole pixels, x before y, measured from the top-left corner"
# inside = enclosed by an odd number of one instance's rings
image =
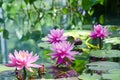
[[[52,29],[50,30],[50,34],[47,35],[48,42],[50,43],[57,43],[61,41],[66,41],[67,37],[63,36],[64,30],[60,29]]]

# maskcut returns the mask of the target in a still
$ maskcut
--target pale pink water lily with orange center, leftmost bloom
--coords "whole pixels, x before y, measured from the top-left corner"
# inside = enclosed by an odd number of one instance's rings
[[[9,54],[9,64],[6,64],[8,67],[16,67],[17,70],[22,70],[24,67],[29,71],[33,72],[31,67],[40,68],[40,65],[34,64],[38,60],[38,55],[33,55],[33,53],[29,53],[28,51],[19,51],[15,50],[14,55]]]

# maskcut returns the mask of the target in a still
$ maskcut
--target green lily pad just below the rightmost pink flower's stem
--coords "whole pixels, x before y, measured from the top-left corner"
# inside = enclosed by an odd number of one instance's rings
[[[90,55],[98,58],[120,57],[120,51],[119,50],[95,50],[90,52]]]

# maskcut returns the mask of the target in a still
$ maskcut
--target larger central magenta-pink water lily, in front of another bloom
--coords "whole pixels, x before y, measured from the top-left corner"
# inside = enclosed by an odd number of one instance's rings
[[[74,44],[71,44],[70,42],[63,41],[56,44],[53,44],[53,47],[51,50],[52,53],[52,59],[54,60],[57,58],[57,64],[68,64],[70,61],[75,60],[73,57],[75,54],[78,54],[78,52],[72,51],[74,48]]]

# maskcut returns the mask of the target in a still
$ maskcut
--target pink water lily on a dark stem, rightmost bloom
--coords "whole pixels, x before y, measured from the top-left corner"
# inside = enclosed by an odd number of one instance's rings
[[[93,39],[96,39],[96,38],[101,38],[101,39],[104,39],[106,37],[108,37],[111,33],[108,32],[108,28],[107,27],[104,27],[100,24],[98,25],[94,25],[94,31],[91,32],[91,37]]]

